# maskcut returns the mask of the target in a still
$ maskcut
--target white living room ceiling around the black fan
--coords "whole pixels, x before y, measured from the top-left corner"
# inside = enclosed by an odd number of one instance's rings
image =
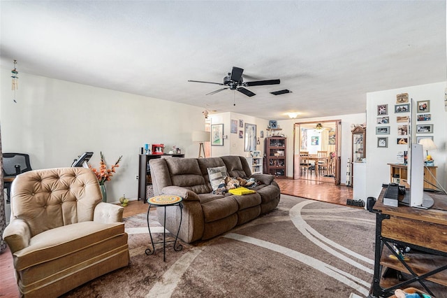
[[[3,1],[0,65],[265,119],[363,113],[446,80],[445,1]],[[246,97],[221,86],[233,66]],[[20,73],[19,73],[20,74]],[[269,92],[293,93],[274,96]],[[233,106],[235,101],[235,106]]]

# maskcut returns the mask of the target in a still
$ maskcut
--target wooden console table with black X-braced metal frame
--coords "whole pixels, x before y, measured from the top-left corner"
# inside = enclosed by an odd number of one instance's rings
[[[413,282],[418,282],[424,292],[433,296],[425,281],[447,286],[447,196],[427,193],[434,199],[434,206],[427,210],[409,206],[392,207],[383,205],[385,190],[374,204],[376,246],[370,297],[388,297],[396,289],[406,288]],[[411,248],[410,253],[406,254],[408,261],[397,260],[393,243]],[[383,268],[411,274],[412,278],[382,288]]]

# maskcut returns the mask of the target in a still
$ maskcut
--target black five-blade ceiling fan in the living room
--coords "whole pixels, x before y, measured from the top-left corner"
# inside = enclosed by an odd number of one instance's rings
[[[223,83],[214,83],[214,82],[205,82],[203,80],[188,80],[188,82],[194,83],[207,83],[207,84],[216,84],[221,86],[228,86],[221,88],[219,90],[214,90],[213,92],[207,93],[206,95],[216,94],[217,92],[221,92],[223,90],[237,90],[247,97],[253,97],[256,95],[254,92],[244,88],[244,87],[252,87],[252,86],[262,86],[262,85],[277,85],[280,83],[280,80],[254,80],[251,82],[244,82],[244,78],[242,78],[242,73],[244,69],[240,69],[239,67],[233,66],[233,70],[228,73],[228,76],[223,78]]]

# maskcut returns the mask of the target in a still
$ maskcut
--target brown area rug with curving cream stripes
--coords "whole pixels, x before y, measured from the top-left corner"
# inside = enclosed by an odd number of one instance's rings
[[[151,212],[152,213],[152,212]],[[163,228],[150,215],[160,241]],[[274,211],[176,252],[149,247],[146,214],[126,218],[131,264],[64,297],[366,297],[374,214],[281,195]]]

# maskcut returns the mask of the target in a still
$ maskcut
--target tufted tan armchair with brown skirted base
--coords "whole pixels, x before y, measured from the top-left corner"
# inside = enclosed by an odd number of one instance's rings
[[[22,297],[57,297],[129,264],[124,208],[103,203],[90,169],[18,175],[3,239]]]

